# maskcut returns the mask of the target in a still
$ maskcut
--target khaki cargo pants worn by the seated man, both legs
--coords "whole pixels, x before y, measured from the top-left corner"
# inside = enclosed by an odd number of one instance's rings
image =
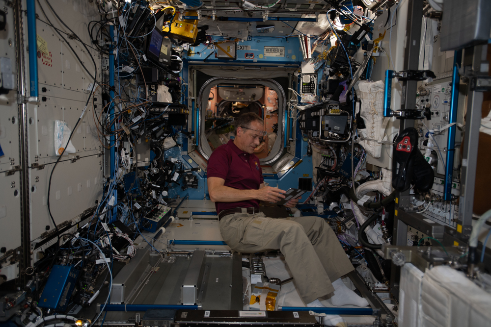
[[[334,292],[331,281],[355,269],[334,231],[319,217],[235,213],[220,220],[220,232],[237,252],[279,249],[306,304]]]

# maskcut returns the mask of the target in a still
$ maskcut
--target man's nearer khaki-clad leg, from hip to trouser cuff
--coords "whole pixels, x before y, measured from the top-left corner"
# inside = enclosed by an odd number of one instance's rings
[[[220,221],[220,231],[224,241],[239,252],[279,249],[305,303],[334,292],[314,246],[299,223],[265,218],[264,214],[235,214]]]

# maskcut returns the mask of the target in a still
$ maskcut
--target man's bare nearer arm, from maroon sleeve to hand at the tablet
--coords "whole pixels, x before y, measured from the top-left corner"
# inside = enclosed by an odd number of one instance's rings
[[[276,202],[278,198],[285,198],[285,191],[276,187],[261,184],[259,190],[238,190],[225,186],[225,179],[220,177],[208,177],[208,192],[213,202],[238,202],[247,200],[259,200]]]

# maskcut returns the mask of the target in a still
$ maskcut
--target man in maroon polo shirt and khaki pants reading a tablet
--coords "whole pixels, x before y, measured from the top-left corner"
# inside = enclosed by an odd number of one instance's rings
[[[241,115],[235,121],[235,139],[218,147],[208,161],[208,190],[223,240],[238,252],[279,249],[308,306],[323,306],[318,298],[331,293],[333,305],[368,305],[341,280],[354,267],[324,219],[273,219],[259,212],[260,201],[274,203],[285,198],[285,191],[265,186],[259,158],[254,155],[265,135],[263,126],[256,114]],[[298,199],[292,199],[285,206],[297,203]]]

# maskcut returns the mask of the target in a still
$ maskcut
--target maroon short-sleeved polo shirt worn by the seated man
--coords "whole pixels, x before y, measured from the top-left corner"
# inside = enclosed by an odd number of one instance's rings
[[[225,186],[238,190],[258,190],[264,181],[259,158],[237,148],[234,140],[219,146],[208,160],[207,177],[225,179]],[[259,200],[215,202],[217,213],[232,208],[259,208]]]

